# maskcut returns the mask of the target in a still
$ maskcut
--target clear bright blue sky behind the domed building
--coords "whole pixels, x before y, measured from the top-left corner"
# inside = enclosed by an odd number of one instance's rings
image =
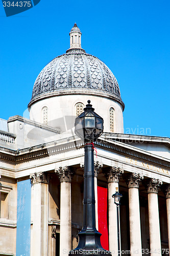
[[[23,115],[36,77],[69,48],[76,22],[82,48],[104,61],[118,81],[125,132],[170,137],[169,9],[169,0],[41,0],[6,17],[0,3],[0,117]]]

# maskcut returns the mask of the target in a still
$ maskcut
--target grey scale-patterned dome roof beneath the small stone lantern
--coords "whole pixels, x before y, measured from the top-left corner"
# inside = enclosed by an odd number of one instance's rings
[[[102,95],[123,105],[117,80],[99,58],[83,49],[69,49],[66,54],[54,58],[39,73],[33,88],[29,106],[37,100],[68,93]]]

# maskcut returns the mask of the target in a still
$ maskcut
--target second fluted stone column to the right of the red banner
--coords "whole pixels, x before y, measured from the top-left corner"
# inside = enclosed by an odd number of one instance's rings
[[[129,188],[129,224],[130,224],[130,251],[131,256],[142,255],[139,183],[143,179],[140,174],[131,173],[126,177]]]

